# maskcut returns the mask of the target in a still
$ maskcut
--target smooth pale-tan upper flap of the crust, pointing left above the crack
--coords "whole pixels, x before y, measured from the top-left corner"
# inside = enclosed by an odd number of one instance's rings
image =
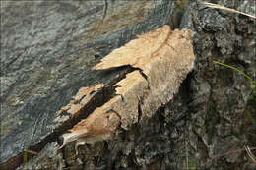
[[[156,57],[154,53],[164,44],[170,32],[170,28],[164,26],[140,35],[137,39],[131,40],[124,46],[113,50],[93,69],[101,70],[126,65],[141,68],[147,65],[153,57]]]

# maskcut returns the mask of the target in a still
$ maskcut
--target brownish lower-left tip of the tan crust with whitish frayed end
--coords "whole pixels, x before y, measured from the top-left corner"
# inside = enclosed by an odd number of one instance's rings
[[[120,117],[108,108],[99,107],[86,119],[80,121],[69,133],[63,134],[62,148],[69,142],[76,141],[76,152],[79,145],[85,143],[94,144],[98,141],[107,140],[112,132],[119,126]]]

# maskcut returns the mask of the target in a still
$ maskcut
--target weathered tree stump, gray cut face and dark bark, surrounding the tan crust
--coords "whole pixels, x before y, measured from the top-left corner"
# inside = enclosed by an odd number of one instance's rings
[[[256,13],[249,0],[214,3]],[[127,69],[106,74],[91,67],[138,34],[178,25],[183,7],[180,28],[193,31],[196,64],[174,99],[148,122],[119,129],[109,142],[79,146],[77,156],[72,143],[57,152],[59,135],[108,101],[114,89],[92,96],[89,109],[72,121],[64,117],[56,124],[56,112],[81,87],[115,84]],[[218,154],[256,145],[256,125],[246,114],[256,118],[255,85],[212,62],[256,80],[255,25],[251,18],[186,1],[1,2],[0,169],[21,165],[26,149],[38,155],[18,169],[255,168],[245,151],[204,165]]]

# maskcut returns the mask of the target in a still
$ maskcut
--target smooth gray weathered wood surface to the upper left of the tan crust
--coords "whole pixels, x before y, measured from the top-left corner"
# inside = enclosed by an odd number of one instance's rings
[[[56,111],[80,87],[119,75],[91,67],[136,35],[160,28],[171,7],[172,1],[1,2],[2,167],[12,169],[26,149],[56,141],[70,127],[54,123]]]

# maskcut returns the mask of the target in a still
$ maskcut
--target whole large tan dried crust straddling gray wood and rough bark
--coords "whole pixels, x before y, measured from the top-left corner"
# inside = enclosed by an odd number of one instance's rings
[[[152,117],[160,105],[173,98],[194,60],[191,31],[172,31],[168,26],[113,50],[93,69],[131,66],[134,71],[114,85],[117,95],[62,136],[61,147],[72,141],[79,145],[107,140],[120,124],[128,130]]]

